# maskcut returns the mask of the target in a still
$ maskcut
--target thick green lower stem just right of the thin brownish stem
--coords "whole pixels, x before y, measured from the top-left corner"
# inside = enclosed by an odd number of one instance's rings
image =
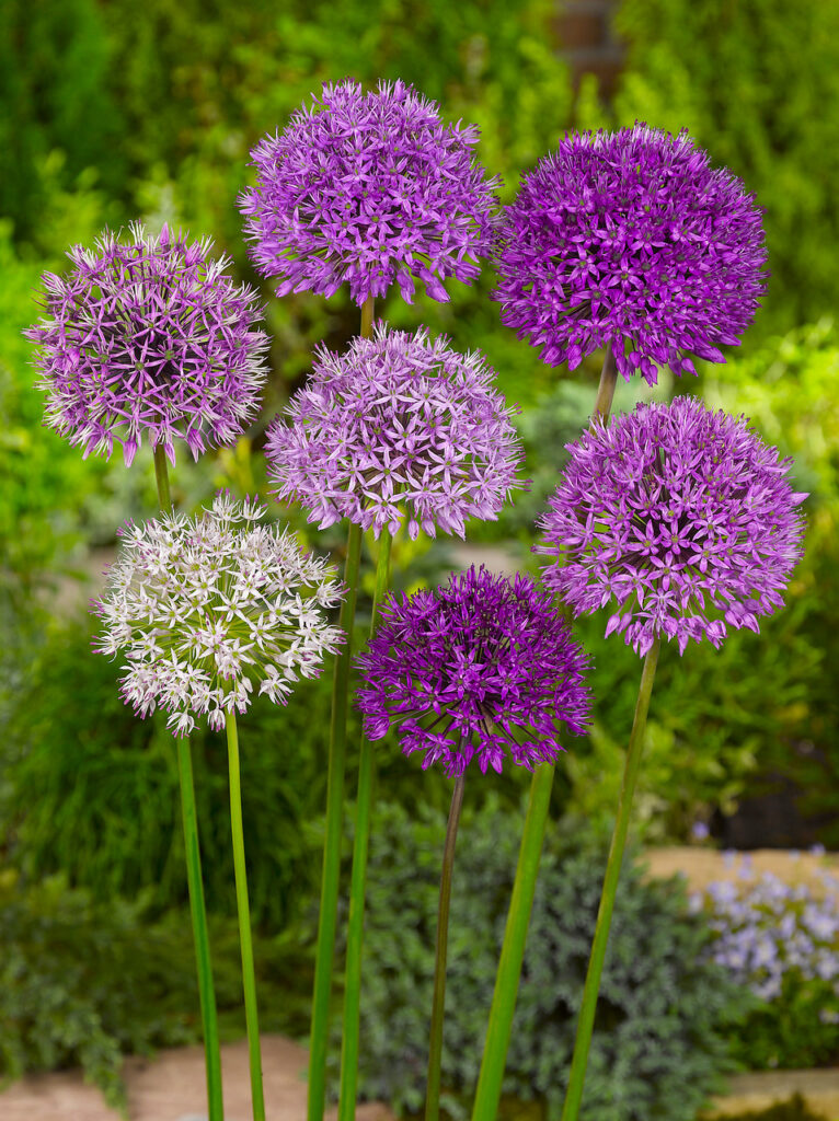
[[[555,763],[542,763],[533,772],[531,795],[527,804],[518,867],[513,884],[507,926],[504,932],[501,956],[498,962],[496,988],[489,1012],[487,1040],[483,1045],[478,1090],[472,1110],[472,1121],[495,1121],[501,1099],[504,1067],[507,1060],[513,1030],[513,1015],[516,1010],[518,982],[522,975],[527,927],[531,921],[533,896],[536,890],[536,874],[542,855],[542,842],[547,823]]]

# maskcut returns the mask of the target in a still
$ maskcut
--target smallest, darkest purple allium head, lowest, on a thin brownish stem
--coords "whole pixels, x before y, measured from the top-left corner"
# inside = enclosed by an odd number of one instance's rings
[[[391,595],[358,664],[370,739],[399,723],[405,754],[450,777],[476,758],[485,772],[505,756],[532,770],[563,750],[561,721],[579,734],[589,717],[589,659],[527,576],[471,567],[436,592]]]

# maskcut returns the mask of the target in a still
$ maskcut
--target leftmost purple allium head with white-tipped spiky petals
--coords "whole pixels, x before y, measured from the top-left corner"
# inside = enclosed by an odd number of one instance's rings
[[[130,465],[144,433],[174,464],[176,437],[197,458],[256,415],[268,339],[258,295],[229,276],[212,241],[131,225],[94,250],[74,245],[65,276],[46,272],[46,316],[25,332],[40,348],[46,421],[73,445]]]

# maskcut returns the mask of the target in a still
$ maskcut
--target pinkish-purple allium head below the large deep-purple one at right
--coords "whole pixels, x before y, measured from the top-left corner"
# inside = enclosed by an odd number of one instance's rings
[[[639,405],[569,444],[571,458],[541,521],[547,587],[575,614],[610,606],[607,636],[646,654],[660,636],[758,630],[783,606],[801,556],[806,495],[744,417],[677,397]]]

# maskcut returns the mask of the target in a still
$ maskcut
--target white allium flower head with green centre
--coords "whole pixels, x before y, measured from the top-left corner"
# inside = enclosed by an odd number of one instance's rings
[[[107,594],[99,654],[122,652],[122,697],[146,716],[159,705],[187,735],[245,712],[253,687],[285,704],[298,677],[316,677],[343,641],[325,609],[343,590],[294,537],[260,525],[265,507],[220,492],[193,519],[163,515],[128,526]]]

